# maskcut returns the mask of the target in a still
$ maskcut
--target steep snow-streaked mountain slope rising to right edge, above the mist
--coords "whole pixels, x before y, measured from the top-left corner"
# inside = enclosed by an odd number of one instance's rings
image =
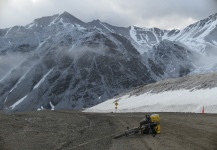
[[[167,38],[172,41],[180,41],[190,49],[204,55],[216,55],[217,48],[217,14],[211,15],[189,25],[175,36]]]

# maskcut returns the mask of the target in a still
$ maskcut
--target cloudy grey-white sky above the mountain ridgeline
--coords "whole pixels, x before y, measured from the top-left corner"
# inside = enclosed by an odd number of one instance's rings
[[[0,29],[64,11],[84,22],[182,29],[217,13],[217,0],[0,0]]]

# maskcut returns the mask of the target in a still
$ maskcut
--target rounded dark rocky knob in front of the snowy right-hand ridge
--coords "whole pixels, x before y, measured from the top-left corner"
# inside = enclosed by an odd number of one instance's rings
[[[194,69],[193,54],[177,42],[161,41],[153,47],[151,58],[162,68],[160,74],[166,72],[170,77],[182,77]]]

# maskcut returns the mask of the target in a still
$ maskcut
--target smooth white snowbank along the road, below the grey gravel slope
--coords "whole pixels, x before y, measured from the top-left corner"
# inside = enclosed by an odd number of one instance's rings
[[[115,101],[118,108],[115,110]],[[191,112],[217,113],[217,88],[146,92],[110,99],[84,112]]]

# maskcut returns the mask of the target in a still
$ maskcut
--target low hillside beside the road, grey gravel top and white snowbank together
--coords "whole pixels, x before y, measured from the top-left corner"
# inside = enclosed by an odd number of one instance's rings
[[[168,79],[136,88],[84,112],[217,113],[217,73]],[[118,108],[115,109],[115,102]]]

